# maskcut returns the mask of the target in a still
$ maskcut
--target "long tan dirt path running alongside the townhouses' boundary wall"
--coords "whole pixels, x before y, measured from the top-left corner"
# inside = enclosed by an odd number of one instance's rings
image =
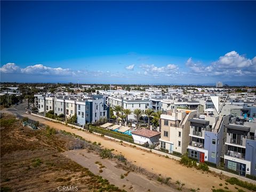
[[[225,179],[221,179],[218,175],[214,173],[206,173],[203,171],[196,170],[194,168],[188,168],[179,164],[179,162],[174,161],[170,158],[165,158],[163,156],[147,153],[138,148],[129,147],[129,145],[121,145],[121,143],[113,140],[106,139],[104,137],[99,137],[96,134],[92,134],[86,131],[79,131],[76,129],[71,129],[68,126],[47,121],[46,119],[35,117],[32,115],[27,115],[29,118],[54,127],[58,130],[65,130],[71,133],[75,133],[86,140],[100,142],[102,147],[109,149],[115,149],[113,151],[116,154],[122,154],[127,158],[128,161],[132,162],[137,166],[141,166],[143,169],[152,171],[157,174],[161,174],[165,177],[171,177],[172,182],[180,180],[185,183],[186,188],[200,188],[200,191],[211,191],[212,186],[216,188],[224,189]],[[222,186],[219,184],[222,183]],[[229,190],[237,191],[235,185],[228,185]],[[241,188],[241,187],[238,187]],[[246,189],[243,189],[246,191]]]

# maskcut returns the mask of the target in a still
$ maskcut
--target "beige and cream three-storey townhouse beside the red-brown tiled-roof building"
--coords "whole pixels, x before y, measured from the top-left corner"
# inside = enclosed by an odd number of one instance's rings
[[[185,154],[189,144],[189,119],[196,110],[172,109],[161,115],[161,148]]]

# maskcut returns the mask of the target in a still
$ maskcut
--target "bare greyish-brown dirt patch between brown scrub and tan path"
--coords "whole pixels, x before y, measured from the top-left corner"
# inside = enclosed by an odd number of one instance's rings
[[[78,150],[69,150],[63,153],[66,157],[75,161],[76,163],[87,167],[94,174],[99,174],[103,178],[107,178],[110,183],[115,186],[125,189],[126,191],[177,191],[175,189],[170,188],[166,185],[161,185],[161,183],[149,180],[146,176],[130,172],[126,177],[121,179],[121,174],[127,173],[121,168],[116,167],[116,162],[110,159],[101,159],[99,155],[93,153],[87,153],[87,149],[78,149]],[[100,165],[95,164],[95,162],[100,162],[103,166],[101,170],[102,173],[99,172]]]

